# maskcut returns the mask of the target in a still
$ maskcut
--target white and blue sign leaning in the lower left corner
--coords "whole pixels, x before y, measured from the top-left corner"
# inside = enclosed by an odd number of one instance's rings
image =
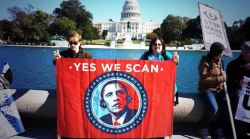
[[[0,138],[23,133],[24,127],[8,89],[0,90]]]

